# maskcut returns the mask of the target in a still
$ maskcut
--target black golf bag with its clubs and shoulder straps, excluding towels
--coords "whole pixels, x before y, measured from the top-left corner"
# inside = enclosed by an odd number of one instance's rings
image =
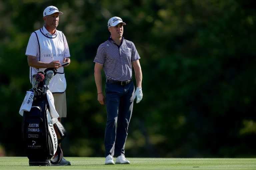
[[[58,145],[54,127],[61,128],[58,131],[62,132],[62,139],[66,135],[66,130],[60,122],[57,122],[58,126],[54,125],[47,99],[49,83],[56,72],[54,68],[46,69],[44,72],[39,71],[33,76],[33,88],[29,90],[34,96],[31,109],[23,112],[22,133],[30,166],[50,166],[51,163],[59,163],[62,158],[62,150]],[[59,159],[52,162],[51,158],[56,151]]]

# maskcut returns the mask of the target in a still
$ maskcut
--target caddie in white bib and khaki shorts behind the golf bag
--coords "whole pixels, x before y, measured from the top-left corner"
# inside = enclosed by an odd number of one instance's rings
[[[44,71],[46,68],[56,68],[57,74],[52,78],[49,84],[49,90],[53,94],[54,105],[59,114],[58,121],[67,116],[66,107],[66,79],[64,67],[70,64],[69,47],[65,35],[56,30],[59,24],[59,16],[63,13],[55,6],[48,6],[43,11],[44,26],[34,31],[28,41],[26,55],[28,65],[30,66],[30,82],[32,76],[38,71]],[[58,131],[56,134],[58,135]],[[58,139],[60,136],[58,135]],[[59,144],[60,145],[60,144]],[[53,159],[56,158],[54,155]],[[71,165],[64,158],[56,165]]]

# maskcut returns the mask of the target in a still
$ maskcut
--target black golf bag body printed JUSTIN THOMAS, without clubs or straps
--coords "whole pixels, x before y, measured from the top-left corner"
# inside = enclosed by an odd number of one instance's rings
[[[29,165],[50,165],[57,150],[57,135],[53,128],[46,94],[33,101],[30,112],[23,113],[23,142]]]

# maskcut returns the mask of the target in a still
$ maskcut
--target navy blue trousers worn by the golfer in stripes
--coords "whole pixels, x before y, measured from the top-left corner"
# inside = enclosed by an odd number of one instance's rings
[[[111,84],[106,82],[107,122],[105,128],[105,157],[124,154],[128,126],[132,116],[134,84]]]

